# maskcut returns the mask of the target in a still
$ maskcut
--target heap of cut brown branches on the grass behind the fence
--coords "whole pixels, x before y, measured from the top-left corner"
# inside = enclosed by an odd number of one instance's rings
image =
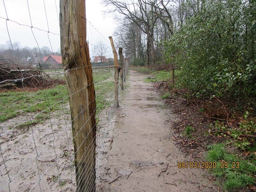
[[[37,88],[43,89],[56,84],[65,84],[65,81],[52,79],[42,70],[32,67],[20,67],[9,59],[0,59],[0,89]]]

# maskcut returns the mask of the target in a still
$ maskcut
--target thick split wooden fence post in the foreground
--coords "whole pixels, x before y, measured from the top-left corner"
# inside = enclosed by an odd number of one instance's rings
[[[94,192],[96,104],[85,18],[84,0],[60,1],[60,47],[68,95],[72,95],[69,96],[69,105],[74,136],[76,191]],[[67,36],[71,38],[65,38]]]

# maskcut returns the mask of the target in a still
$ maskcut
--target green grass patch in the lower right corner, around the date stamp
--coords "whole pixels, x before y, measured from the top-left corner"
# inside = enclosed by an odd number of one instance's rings
[[[224,144],[214,144],[208,148],[210,150],[206,155],[206,161],[217,162],[217,167],[211,169],[210,173],[217,178],[224,189],[239,191],[248,185],[256,184],[256,156],[254,154],[250,158],[243,159],[229,153]],[[220,162],[228,162],[228,167],[221,168]],[[232,162],[239,162],[239,168],[232,168]]]

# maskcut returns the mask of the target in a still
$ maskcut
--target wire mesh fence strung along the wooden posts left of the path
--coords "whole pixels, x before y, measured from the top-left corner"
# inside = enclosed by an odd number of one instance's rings
[[[87,21],[87,39],[74,39],[73,36],[52,32],[44,0],[40,9],[44,12],[46,29],[38,24],[34,27],[31,1],[25,2],[28,12],[26,23],[8,17],[14,5],[4,0],[1,4],[6,16],[1,15],[0,19],[6,23],[10,50],[8,58],[0,59],[0,191],[98,191],[104,185],[108,171],[106,157],[113,141],[117,111],[111,44],[83,13],[66,1],[60,0],[60,3]],[[56,15],[59,15],[56,1],[53,3]],[[59,17],[56,18],[60,23]],[[13,44],[12,31],[8,28],[12,24],[17,30],[27,28],[39,56],[31,56],[26,63],[17,59],[19,50]],[[48,39],[51,55],[43,54],[36,31]],[[67,38],[75,44],[87,42],[91,57],[89,65],[81,67],[74,57],[75,66],[63,70],[63,63],[58,62],[59,56],[52,48],[52,36]],[[126,76],[128,60],[124,59],[124,63],[119,62],[119,65],[125,68]],[[81,70],[91,69],[92,82],[84,81],[81,89],[72,92],[67,90],[67,86],[73,86],[65,81],[68,72],[79,74]],[[79,81],[80,76],[77,78]],[[95,96],[84,103],[89,88],[93,88]],[[71,108],[70,114],[69,101],[74,98],[81,98],[81,101],[77,111]],[[91,113],[88,112],[90,110]],[[88,118],[83,118],[83,114],[88,113]],[[74,124],[81,116],[83,121],[75,132]],[[85,127],[89,123],[92,123],[92,128],[88,131]],[[75,140],[80,141],[79,145]]]

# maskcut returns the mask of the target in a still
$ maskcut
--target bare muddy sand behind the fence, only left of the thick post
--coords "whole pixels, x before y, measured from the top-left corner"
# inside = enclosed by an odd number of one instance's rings
[[[8,127],[29,118],[30,116],[17,116],[1,123],[1,133],[6,132]],[[69,122],[70,115],[65,115],[65,119]],[[73,156],[74,147],[73,142],[69,142],[72,141],[71,124],[67,123],[65,129],[65,119],[63,115],[52,114],[52,128],[50,119],[48,119],[45,123],[30,126],[28,129],[14,128],[1,137],[1,150],[8,171],[1,156],[0,188],[5,186],[3,191],[9,191],[9,185],[6,184],[10,179],[10,191],[29,191],[30,189],[32,191],[50,191],[51,189],[60,191],[61,188],[63,191],[66,188],[70,191],[74,188],[75,170],[72,162],[70,163],[70,155]],[[36,154],[38,154],[37,158]],[[57,161],[55,161],[56,156]],[[42,177],[40,182],[39,174]]]

